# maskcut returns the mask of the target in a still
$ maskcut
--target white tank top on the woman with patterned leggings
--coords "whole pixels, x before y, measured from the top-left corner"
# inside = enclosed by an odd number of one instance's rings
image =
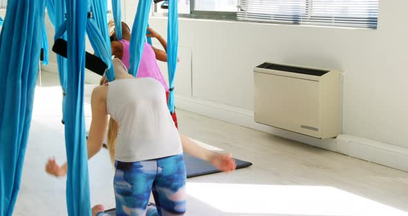
[[[166,104],[163,85],[153,78],[109,83],[106,109],[119,124],[115,159],[146,161],[183,153]]]

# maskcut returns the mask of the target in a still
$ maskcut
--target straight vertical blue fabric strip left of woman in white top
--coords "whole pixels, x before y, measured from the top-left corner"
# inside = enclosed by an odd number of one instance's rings
[[[55,4],[59,4],[59,0]],[[88,153],[84,121],[85,30],[88,1],[66,1],[66,22],[56,37],[67,35],[66,98],[64,109],[66,159],[66,205],[68,215],[91,215]],[[69,75],[67,75],[69,74]]]

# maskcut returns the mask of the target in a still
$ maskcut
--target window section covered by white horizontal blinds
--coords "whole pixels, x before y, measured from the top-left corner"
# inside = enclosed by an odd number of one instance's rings
[[[377,28],[378,0],[239,0],[237,19]]]

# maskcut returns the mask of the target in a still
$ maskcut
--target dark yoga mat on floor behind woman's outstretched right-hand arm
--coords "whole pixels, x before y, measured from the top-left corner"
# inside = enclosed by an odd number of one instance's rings
[[[88,132],[86,132],[86,137],[88,137]],[[104,147],[106,147],[105,144]],[[248,161],[241,161],[239,159],[234,160],[235,163],[237,163],[237,169],[248,168],[250,165],[252,165],[252,163]],[[214,166],[212,166],[210,163],[201,159],[197,159],[196,157],[191,156],[187,153],[184,153],[184,161],[185,168],[187,169],[187,179],[221,172],[214,168]],[[115,208],[106,210],[105,213],[109,213],[109,215],[116,215]]]

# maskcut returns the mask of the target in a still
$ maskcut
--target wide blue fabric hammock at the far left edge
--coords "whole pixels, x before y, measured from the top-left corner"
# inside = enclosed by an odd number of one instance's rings
[[[0,215],[12,215],[33,112],[45,0],[9,0],[0,34]]]

